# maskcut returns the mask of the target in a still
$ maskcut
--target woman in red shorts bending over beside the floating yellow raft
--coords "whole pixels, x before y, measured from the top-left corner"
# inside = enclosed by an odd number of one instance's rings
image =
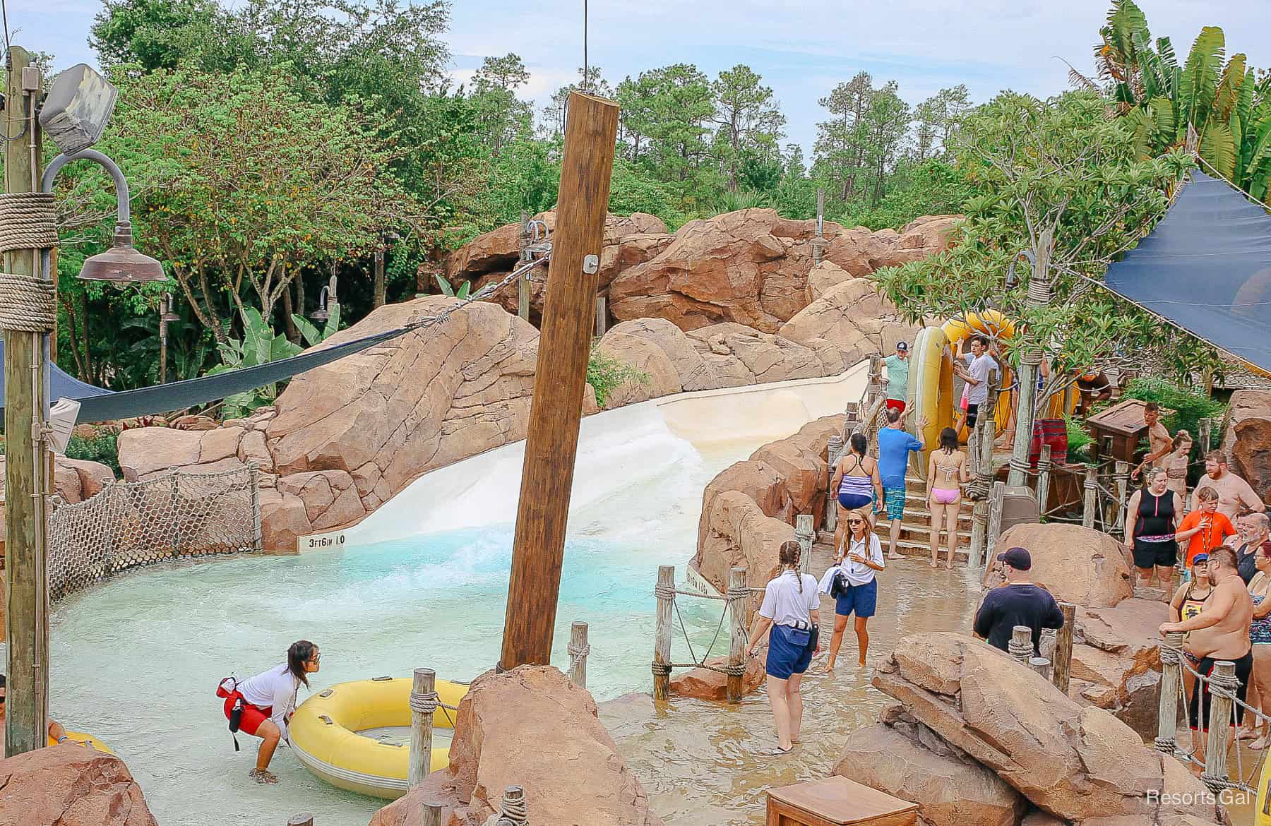
[[[225,698],[225,717],[230,732],[244,732],[261,738],[255,756],[255,769],[248,774],[257,783],[277,783],[269,771],[269,761],[280,740],[287,738],[287,722],[296,710],[296,693],[309,687],[309,675],[316,674],[322,654],[318,646],[308,639],[291,643],[287,661],[239,682],[225,677],[216,689],[216,696]],[[238,751],[238,738],[234,740]]]

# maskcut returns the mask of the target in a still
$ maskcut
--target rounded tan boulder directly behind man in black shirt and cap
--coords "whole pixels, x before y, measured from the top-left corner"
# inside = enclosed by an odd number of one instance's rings
[[[1134,596],[1134,572],[1121,543],[1079,525],[1016,525],[998,540],[999,548],[1026,548],[1032,557],[1030,577],[1061,602],[1085,607],[1112,607]],[[990,568],[985,587],[1002,583]]]

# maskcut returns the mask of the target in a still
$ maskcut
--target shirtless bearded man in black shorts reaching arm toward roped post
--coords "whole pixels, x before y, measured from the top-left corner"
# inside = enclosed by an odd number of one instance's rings
[[[1253,620],[1253,600],[1249,597],[1240,572],[1235,567],[1235,552],[1227,545],[1215,548],[1209,554],[1209,582],[1211,586],[1205,607],[1196,616],[1179,623],[1162,623],[1160,633],[1187,633],[1185,653],[1188,665],[1195,663],[1196,672],[1209,676],[1214,663],[1230,660],[1235,663],[1235,679],[1239,681],[1235,696],[1244,701],[1249,690],[1249,674],[1253,671],[1253,646],[1249,643],[1249,623]],[[1188,719],[1192,742],[1196,745],[1196,757],[1205,761],[1205,735],[1209,731],[1209,682],[1205,689],[1199,686],[1192,691],[1188,704]],[[1235,722],[1239,726],[1244,709],[1235,707]]]

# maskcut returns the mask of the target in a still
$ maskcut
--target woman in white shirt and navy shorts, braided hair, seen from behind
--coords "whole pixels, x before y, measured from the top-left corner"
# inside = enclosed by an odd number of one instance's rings
[[[777,722],[778,748],[768,755],[789,754],[799,742],[803,723],[803,695],[799,682],[820,653],[817,607],[821,597],[816,578],[799,572],[799,544],[785,541],[778,552],[780,571],[764,588],[764,604],[759,606],[755,626],[750,633],[750,656],[755,656],[760,639],[771,628],[768,638],[768,701],[773,705]]]

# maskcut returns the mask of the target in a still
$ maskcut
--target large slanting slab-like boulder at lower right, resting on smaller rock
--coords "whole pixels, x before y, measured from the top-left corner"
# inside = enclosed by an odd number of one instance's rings
[[[905,637],[873,685],[1056,817],[1225,816],[1177,760],[980,640],[952,632]]]

